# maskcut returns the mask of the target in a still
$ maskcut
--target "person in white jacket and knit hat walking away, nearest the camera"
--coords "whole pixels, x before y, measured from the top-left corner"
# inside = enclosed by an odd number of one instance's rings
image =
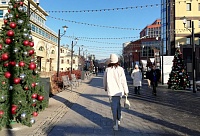
[[[121,119],[120,100],[123,95],[128,96],[129,90],[127,85],[124,69],[119,66],[116,54],[110,55],[110,63],[106,68],[103,76],[103,86],[107,91],[113,114],[114,130],[118,130]]]

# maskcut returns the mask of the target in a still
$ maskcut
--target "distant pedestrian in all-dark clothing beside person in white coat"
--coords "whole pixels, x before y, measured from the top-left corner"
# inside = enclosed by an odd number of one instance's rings
[[[154,65],[152,66],[149,76],[151,80],[151,85],[153,87],[152,94],[156,96],[157,95],[156,87],[158,86],[158,81],[160,79],[160,72],[156,70],[156,67]]]

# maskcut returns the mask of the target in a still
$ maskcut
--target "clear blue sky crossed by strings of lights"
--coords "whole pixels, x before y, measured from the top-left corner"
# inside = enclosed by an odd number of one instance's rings
[[[84,45],[83,51],[94,54],[96,59],[108,58],[111,53],[121,54],[124,42],[134,41],[139,37],[141,30],[133,29],[143,29],[160,18],[161,7],[160,0],[40,0],[40,6],[49,11],[46,25],[53,31],[58,33],[58,29],[61,29],[62,33],[62,26],[68,26],[65,36],[61,38],[61,45],[68,44],[71,48],[73,38],[70,37],[81,37],[74,46],[75,53],[80,45]],[[125,7],[133,8],[116,10]],[[115,10],[99,11],[100,9]],[[89,12],[55,12],[86,10]]]

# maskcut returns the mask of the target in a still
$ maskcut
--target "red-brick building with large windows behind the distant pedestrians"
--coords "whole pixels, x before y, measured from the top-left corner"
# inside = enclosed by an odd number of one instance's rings
[[[133,69],[135,64],[141,65],[146,70],[147,61],[155,58],[155,51],[160,54],[161,42],[161,20],[156,19],[140,32],[140,39],[124,43],[123,58],[124,67]],[[158,68],[160,64],[156,63]]]

